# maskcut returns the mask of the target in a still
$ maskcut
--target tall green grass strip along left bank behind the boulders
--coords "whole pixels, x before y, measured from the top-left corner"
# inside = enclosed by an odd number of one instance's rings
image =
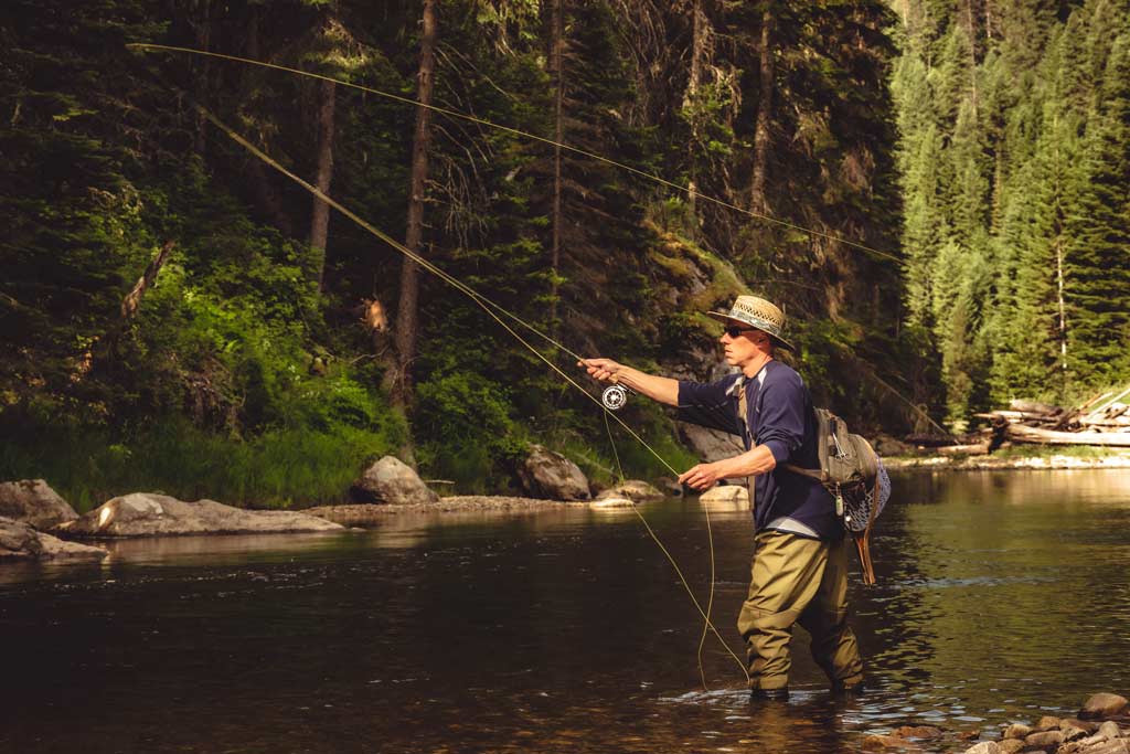
[[[0,478],[44,478],[79,512],[131,492],[250,508],[345,502],[366,461],[393,452],[390,428],[280,428],[240,440],[183,421],[131,436],[70,427],[0,445]]]

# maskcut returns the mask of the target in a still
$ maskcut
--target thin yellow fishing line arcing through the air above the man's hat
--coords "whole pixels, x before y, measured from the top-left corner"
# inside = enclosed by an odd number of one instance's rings
[[[125,46],[129,47],[129,49],[132,49],[132,50],[140,50],[140,51],[144,51],[144,52],[150,52],[150,51],[157,51],[157,52],[183,52],[183,53],[189,53],[189,54],[193,54],[193,55],[203,55],[203,57],[207,57],[207,58],[217,58],[219,60],[229,60],[229,61],[233,61],[233,62],[246,63],[249,66],[260,66],[262,68],[270,68],[270,69],[278,70],[278,71],[285,71],[287,73],[295,73],[297,76],[306,76],[308,78],[314,78],[314,79],[319,79],[319,80],[322,80],[322,81],[330,81],[332,84],[337,84],[337,85],[340,85],[340,86],[344,86],[344,87],[349,87],[351,89],[358,89],[360,92],[367,92],[368,94],[375,94],[379,97],[385,97],[388,99],[393,99],[395,102],[400,102],[400,103],[406,104],[406,105],[414,105],[416,107],[425,107],[427,110],[431,110],[432,112],[436,112],[436,113],[440,113],[442,115],[446,115],[449,118],[455,118],[455,119],[459,119],[459,120],[464,120],[464,121],[468,121],[468,122],[471,122],[471,123],[476,123],[476,124],[479,124],[479,125],[487,125],[489,128],[498,129],[501,131],[506,131],[507,133],[513,133],[514,136],[520,136],[520,137],[522,137],[524,139],[531,139],[533,141],[540,141],[541,144],[547,144],[549,146],[553,146],[553,147],[560,147],[562,149],[566,149],[568,151],[572,151],[573,154],[581,155],[583,157],[589,157],[590,159],[596,159],[598,162],[605,163],[606,165],[611,165],[614,167],[618,167],[620,170],[627,171],[628,173],[632,173],[634,175],[638,175],[641,177],[645,177],[649,181],[654,181],[655,183],[659,183],[660,185],[664,185],[664,187],[668,187],[670,189],[675,189],[676,191],[680,191],[680,192],[687,194],[688,197],[695,197],[697,199],[703,199],[703,200],[709,201],[711,203],[718,205],[719,207],[725,207],[727,209],[730,209],[732,211],[740,213],[742,215],[748,215],[749,217],[755,217],[755,218],[757,218],[759,220],[764,220],[766,223],[772,223],[773,225],[785,227],[785,228],[789,228],[791,231],[800,231],[801,233],[807,233],[809,235],[818,236],[818,237],[822,237],[822,239],[827,239],[828,241],[835,241],[837,243],[843,243],[843,244],[849,245],[849,246],[854,246],[855,249],[859,249],[860,251],[866,251],[867,253],[873,254],[876,257],[881,257],[884,259],[889,259],[889,260],[895,261],[895,262],[902,262],[902,260],[898,257],[895,257],[892,253],[888,253],[886,251],[880,251],[880,250],[875,249],[872,246],[868,246],[867,244],[859,243],[858,241],[850,241],[849,239],[844,239],[844,237],[834,235],[832,233],[825,233],[823,231],[816,231],[814,228],[805,227],[803,225],[797,225],[796,223],[789,223],[788,220],[782,220],[782,219],[780,219],[777,217],[773,217],[772,215],[765,215],[765,214],[762,214],[762,213],[755,213],[751,209],[746,209],[745,207],[739,207],[739,206],[733,205],[733,203],[731,203],[729,201],[724,201],[722,199],[716,199],[715,197],[711,197],[711,196],[707,196],[705,193],[698,193],[694,189],[688,189],[686,187],[679,185],[678,183],[673,183],[671,181],[668,181],[664,177],[655,175],[654,173],[649,173],[649,172],[642,171],[642,170],[640,170],[637,167],[632,167],[631,165],[625,165],[624,163],[617,162],[617,161],[611,159],[609,157],[605,157],[602,155],[598,155],[596,153],[588,151],[585,149],[581,149],[579,147],[573,147],[573,146],[570,146],[567,144],[560,142],[560,141],[554,141],[553,139],[548,139],[546,137],[538,136],[537,133],[530,133],[528,131],[521,131],[521,130],[519,130],[516,128],[512,128],[510,125],[503,125],[502,123],[495,123],[493,121],[488,121],[488,120],[485,120],[485,119],[481,119],[481,118],[476,118],[475,115],[469,115],[467,113],[461,113],[458,110],[451,110],[449,107],[443,107],[443,106],[440,106],[440,105],[432,105],[432,104],[427,104],[426,105],[423,102],[419,102],[417,99],[412,99],[411,97],[406,97],[403,95],[393,94],[392,92],[384,92],[382,89],[375,89],[373,87],[362,86],[360,84],[353,84],[351,81],[342,81],[342,80],[333,78],[332,76],[323,76],[322,73],[314,73],[314,72],[311,72],[311,71],[302,70],[301,68],[289,68],[287,66],[279,66],[277,63],[268,63],[268,62],[264,62],[262,60],[254,60],[252,58],[240,58],[238,55],[226,55],[226,54],[220,53],[220,52],[209,52],[207,50],[195,50],[193,47],[179,47],[179,46],[167,45],[167,44],[151,44],[151,43],[148,43],[148,42],[134,42],[134,43],[127,44]]]

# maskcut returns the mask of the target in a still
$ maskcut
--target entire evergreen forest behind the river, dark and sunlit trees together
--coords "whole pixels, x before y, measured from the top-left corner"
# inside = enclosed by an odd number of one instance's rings
[[[277,167],[574,379],[566,352],[707,379],[704,312],[754,292],[868,432],[1124,383],[1128,5],[11,0],[0,477],[81,510],[333,502],[385,453],[505,492],[531,442],[663,473]]]

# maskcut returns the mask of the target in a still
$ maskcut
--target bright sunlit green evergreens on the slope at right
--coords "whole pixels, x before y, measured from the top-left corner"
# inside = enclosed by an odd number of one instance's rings
[[[1124,2],[909,2],[892,88],[907,320],[948,418],[1130,378]]]

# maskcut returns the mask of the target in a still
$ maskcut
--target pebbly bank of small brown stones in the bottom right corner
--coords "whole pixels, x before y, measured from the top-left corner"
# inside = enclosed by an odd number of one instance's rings
[[[991,730],[904,726],[868,736],[862,749],[892,754],[1130,754],[1130,704],[1119,694],[1101,693],[1090,696],[1074,717],[1044,716],[1032,723],[1007,721]]]

